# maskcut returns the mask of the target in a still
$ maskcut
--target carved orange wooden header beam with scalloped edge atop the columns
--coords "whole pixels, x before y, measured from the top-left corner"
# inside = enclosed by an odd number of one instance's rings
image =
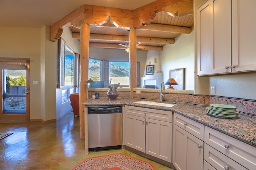
[[[149,25],[154,20],[156,13],[163,11],[163,8],[164,11],[171,14],[176,10],[179,13],[182,7],[185,6],[186,8],[182,9],[181,13],[191,13],[191,2],[193,0],[156,0],[135,10],[83,5],[50,27],[50,41],[57,41],[62,35],[63,29],[71,25],[80,26],[82,23],[100,23],[109,16],[118,25],[139,29],[144,25]]]

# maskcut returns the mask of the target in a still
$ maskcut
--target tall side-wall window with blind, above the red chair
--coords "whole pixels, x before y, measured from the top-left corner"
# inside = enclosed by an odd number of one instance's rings
[[[57,60],[57,88],[62,88],[62,102],[69,100],[69,95],[74,93],[74,87],[79,85],[79,59],[66,42],[60,38]]]

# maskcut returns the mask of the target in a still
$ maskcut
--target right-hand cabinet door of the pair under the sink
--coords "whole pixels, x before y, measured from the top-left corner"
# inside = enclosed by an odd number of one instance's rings
[[[172,162],[172,123],[146,119],[146,154]]]

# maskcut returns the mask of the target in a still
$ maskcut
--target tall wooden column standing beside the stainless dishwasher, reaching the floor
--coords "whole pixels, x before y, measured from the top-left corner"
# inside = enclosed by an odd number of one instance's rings
[[[79,95],[79,119],[80,119],[80,138],[88,139],[88,131],[85,130],[85,112],[82,103],[87,100],[87,84],[84,84],[88,80],[88,60],[89,60],[89,39],[90,29],[86,23],[82,24],[80,31],[80,95]],[[87,121],[87,113],[86,113]]]

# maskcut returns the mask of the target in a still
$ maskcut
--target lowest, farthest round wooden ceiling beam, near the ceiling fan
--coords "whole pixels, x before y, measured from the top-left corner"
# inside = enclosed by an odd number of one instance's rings
[[[90,43],[90,47],[94,48],[105,48],[105,49],[125,49],[122,45],[118,44],[111,44],[111,43]],[[157,46],[147,46],[147,45],[139,45],[136,47],[137,50],[160,50],[162,51],[164,47],[157,47]]]

